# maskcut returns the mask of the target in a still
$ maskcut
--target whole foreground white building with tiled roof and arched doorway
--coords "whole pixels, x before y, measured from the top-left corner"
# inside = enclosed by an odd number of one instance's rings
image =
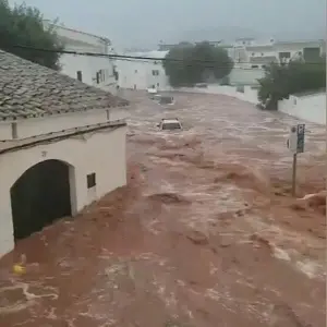
[[[0,256],[125,185],[128,105],[0,50]]]

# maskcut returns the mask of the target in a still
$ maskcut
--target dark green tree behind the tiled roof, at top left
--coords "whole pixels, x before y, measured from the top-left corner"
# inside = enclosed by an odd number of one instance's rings
[[[16,46],[47,49],[37,51]],[[0,0],[0,49],[38,64],[60,70],[59,58],[63,45],[53,27],[45,27],[43,15],[26,4],[11,8],[8,0]]]

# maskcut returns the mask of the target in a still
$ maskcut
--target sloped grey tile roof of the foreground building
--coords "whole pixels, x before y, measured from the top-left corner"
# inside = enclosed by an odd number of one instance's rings
[[[0,50],[0,120],[128,105],[102,89]]]

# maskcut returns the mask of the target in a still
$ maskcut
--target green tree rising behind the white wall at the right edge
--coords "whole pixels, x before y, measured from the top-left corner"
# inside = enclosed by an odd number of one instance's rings
[[[258,98],[266,109],[277,109],[278,101],[291,94],[326,87],[325,56],[314,62],[291,61],[289,64],[271,63],[259,81]]]

